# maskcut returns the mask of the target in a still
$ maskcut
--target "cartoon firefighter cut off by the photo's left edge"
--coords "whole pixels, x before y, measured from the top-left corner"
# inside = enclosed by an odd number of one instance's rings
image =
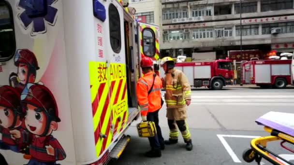
[[[15,139],[11,132],[22,132],[22,120],[25,111],[21,108],[20,93],[15,88],[0,86],[0,149],[19,152],[21,145],[25,144],[23,138]]]

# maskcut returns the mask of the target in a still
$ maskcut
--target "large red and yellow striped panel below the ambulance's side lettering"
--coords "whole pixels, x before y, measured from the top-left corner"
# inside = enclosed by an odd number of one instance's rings
[[[110,67],[106,67],[105,62],[89,62],[97,157],[107,149],[114,135],[124,128],[123,121],[128,119],[125,67],[125,64],[111,63]],[[111,129],[112,124],[115,124],[114,130]]]

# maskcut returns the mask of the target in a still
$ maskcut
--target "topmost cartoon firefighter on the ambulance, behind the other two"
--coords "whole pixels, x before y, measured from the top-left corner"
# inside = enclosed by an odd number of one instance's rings
[[[9,84],[21,93],[27,83],[35,83],[37,70],[40,68],[35,54],[29,49],[17,50],[14,61],[17,73],[10,74]]]

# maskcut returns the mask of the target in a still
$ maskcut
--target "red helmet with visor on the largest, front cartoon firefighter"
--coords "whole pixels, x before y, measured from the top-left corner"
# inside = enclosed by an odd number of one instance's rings
[[[43,109],[51,121],[60,122],[56,100],[44,85],[28,83],[21,94],[21,103]]]

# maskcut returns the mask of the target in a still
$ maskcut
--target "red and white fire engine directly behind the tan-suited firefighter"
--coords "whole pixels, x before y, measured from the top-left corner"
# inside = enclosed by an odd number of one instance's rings
[[[193,87],[207,86],[209,89],[220,90],[233,83],[232,60],[179,62],[175,69],[183,71]],[[161,75],[164,75],[163,69]]]

